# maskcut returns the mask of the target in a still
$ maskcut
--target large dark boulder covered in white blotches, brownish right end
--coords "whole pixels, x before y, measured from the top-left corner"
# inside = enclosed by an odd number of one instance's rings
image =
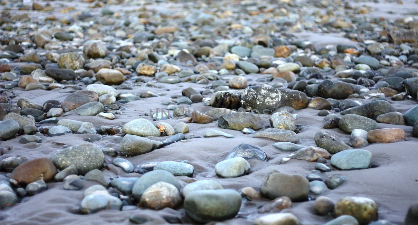
[[[309,97],[297,90],[252,86],[245,88],[241,94],[241,106],[260,113],[270,113],[282,106],[299,110],[306,108],[308,103]]]

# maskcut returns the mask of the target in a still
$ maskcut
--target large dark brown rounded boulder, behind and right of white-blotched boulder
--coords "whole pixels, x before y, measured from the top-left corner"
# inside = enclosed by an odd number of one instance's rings
[[[324,98],[344,99],[355,92],[352,85],[337,80],[324,80],[318,86],[318,94]]]

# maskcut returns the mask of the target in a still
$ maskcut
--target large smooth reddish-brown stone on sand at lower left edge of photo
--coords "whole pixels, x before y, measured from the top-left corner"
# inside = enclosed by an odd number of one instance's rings
[[[37,158],[16,167],[10,175],[10,179],[22,184],[30,184],[36,180],[48,182],[54,178],[55,174],[56,168],[50,159]]]

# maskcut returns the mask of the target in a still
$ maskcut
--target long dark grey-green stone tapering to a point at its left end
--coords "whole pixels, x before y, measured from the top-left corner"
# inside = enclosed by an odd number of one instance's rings
[[[364,105],[359,105],[346,109],[341,112],[341,115],[347,114],[357,114],[370,119],[376,120],[379,115],[395,112],[395,107],[393,107],[389,102],[384,100],[373,101]]]

